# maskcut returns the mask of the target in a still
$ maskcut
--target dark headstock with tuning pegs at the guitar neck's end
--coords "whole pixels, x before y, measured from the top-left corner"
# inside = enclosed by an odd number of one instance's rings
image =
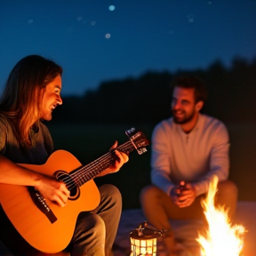
[[[142,132],[135,132],[135,129],[132,128],[125,131],[125,134],[132,141],[132,145],[140,155],[147,152],[147,148],[145,147],[149,145],[149,141]]]

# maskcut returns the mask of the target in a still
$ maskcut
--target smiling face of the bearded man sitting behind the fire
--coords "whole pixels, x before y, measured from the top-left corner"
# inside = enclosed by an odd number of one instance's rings
[[[200,102],[200,103],[199,103]],[[201,108],[202,101],[196,103],[195,89],[174,87],[172,93],[172,114],[177,124],[187,124]],[[198,104],[199,103],[199,104]]]

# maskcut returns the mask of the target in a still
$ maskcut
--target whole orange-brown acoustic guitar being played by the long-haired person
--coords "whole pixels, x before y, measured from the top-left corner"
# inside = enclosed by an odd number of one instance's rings
[[[142,132],[132,128],[125,132],[129,140],[116,149],[129,155],[134,149],[147,151],[148,140]],[[65,182],[70,197],[64,207],[46,200],[34,187],[0,183],[0,202],[12,225],[21,236],[41,252],[64,250],[75,230],[80,212],[94,210],[100,204],[100,192],[93,178],[116,161],[109,150],[90,164],[82,165],[71,153],[57,150],[45,164],[20,164],[57,180]]]

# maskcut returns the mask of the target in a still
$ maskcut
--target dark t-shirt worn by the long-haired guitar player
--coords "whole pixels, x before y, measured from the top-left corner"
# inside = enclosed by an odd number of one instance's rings
[[[0,116],[0,154],[19,164],[44,164],[53,151],[52,136],[39,122],[38,129],[30,131],[31,148],[25,148],[12,132],[8,119]]]

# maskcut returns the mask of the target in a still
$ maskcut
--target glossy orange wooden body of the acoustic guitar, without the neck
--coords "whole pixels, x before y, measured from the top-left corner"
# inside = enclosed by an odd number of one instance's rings
[[[54,176],[56,171],[71,172],[82,164],[65,150],[52,153],[42,165],[20,164],[42,174]],[[41,252],[60,252],[69,244],[80,212],[94,210],[100,204],[100,192],[93,180],[80,189],[76,200],[68,200],[65,207],[46,201],[57,220],[50,220],[34,204],[26,186],[0,183],[0,202],[12,225],[24,239]]]

